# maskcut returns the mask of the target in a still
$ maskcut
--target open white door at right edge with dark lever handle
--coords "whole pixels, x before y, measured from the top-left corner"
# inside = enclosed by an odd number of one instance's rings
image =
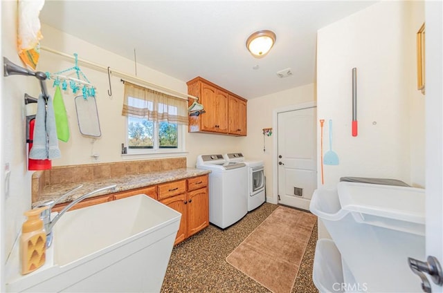
[[[426,1],[426,256],[443,265],[443,4]],[[426,261],[422,259],[420,261]],[[443,287],[428,280],[432,292]],[[417,282],[420,282],[417,276]]]

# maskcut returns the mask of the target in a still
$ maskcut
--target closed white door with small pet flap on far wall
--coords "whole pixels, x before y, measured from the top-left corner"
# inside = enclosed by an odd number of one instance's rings
[[[309,210],[317,187],[316,107],[278,113],[278,203]]]

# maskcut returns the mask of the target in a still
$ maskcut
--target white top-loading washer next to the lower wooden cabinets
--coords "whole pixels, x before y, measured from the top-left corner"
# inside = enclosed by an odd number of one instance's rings
[[[223,155],[199,155],[197,169],[209,173],[209,222],[225,229],[248,213],[246,164],[228,162]]]

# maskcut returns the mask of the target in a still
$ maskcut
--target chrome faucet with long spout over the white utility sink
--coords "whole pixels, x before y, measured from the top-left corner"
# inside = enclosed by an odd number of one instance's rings
[[[68,191],[67,193],[65,193],[63,196],[61,196],[60,198],[57,198],[57,200],[48,200],[46,202],[43,202],[40,205],[37,205],[37,207],[47,207],[47,209],[45,209],[42,214],[40,214],[40,218],[43,220],[43,225],[44,225],[44,229],[46,231],[46,247],[50,247],[51,244],[53,243],[53,227],[55,225],[55,223],[57,223],[57,221],[64,215],[64,213],[66,213],[66,211],[69,211],[69,209],[71,209],[71,207],[73,207],[74,205],[76,205],[78,202],[84,200],[84,198],[88,198],[89,196],[92,196],[94,193],[99,193],[100,191],[105,191],[107,189],[112,189],[115,190],[117,185],[109,185],[107,187],[102,187],[100,189],[96,189],[94,191],[91,191],[89,193],[86,193],[82,196],[80,196],[79,198],[73,200],[72,202],[69,203],[69,205],[66,205],[66,207],[64,207],[64,209],[62,209],[57,216],[55,216],[52,220],[51,220],[51,209],[54,207],[54,205],[57,204],[57,202],[60,202],[60,200],[66,198],[67,196],[69,196],[70,194],[72,194],[74,191],[80,189],[81,187],[83,187],[83,185],[79,185],[78,187],[75,187],[74,189],[72,189],[71,191]]]

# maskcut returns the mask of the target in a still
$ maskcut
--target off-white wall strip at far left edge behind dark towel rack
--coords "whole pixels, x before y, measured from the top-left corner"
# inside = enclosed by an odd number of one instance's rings
[[[17,55],[17,1],[1,1],[1,56],[23,66]],[[3,60],[2,60],[3,62]],[[3,70],[2,70],[3,71]],[[38,93],[39,83],[35,77],[1,74],[1,280],[3,265],[21,229],[24,211],[30,209],[30,176],[26,161],[26,114],[24,93]],[[4,166],[10,166],[9,195],[5,193]],[[0,283],[4,292],[4,282]]]

